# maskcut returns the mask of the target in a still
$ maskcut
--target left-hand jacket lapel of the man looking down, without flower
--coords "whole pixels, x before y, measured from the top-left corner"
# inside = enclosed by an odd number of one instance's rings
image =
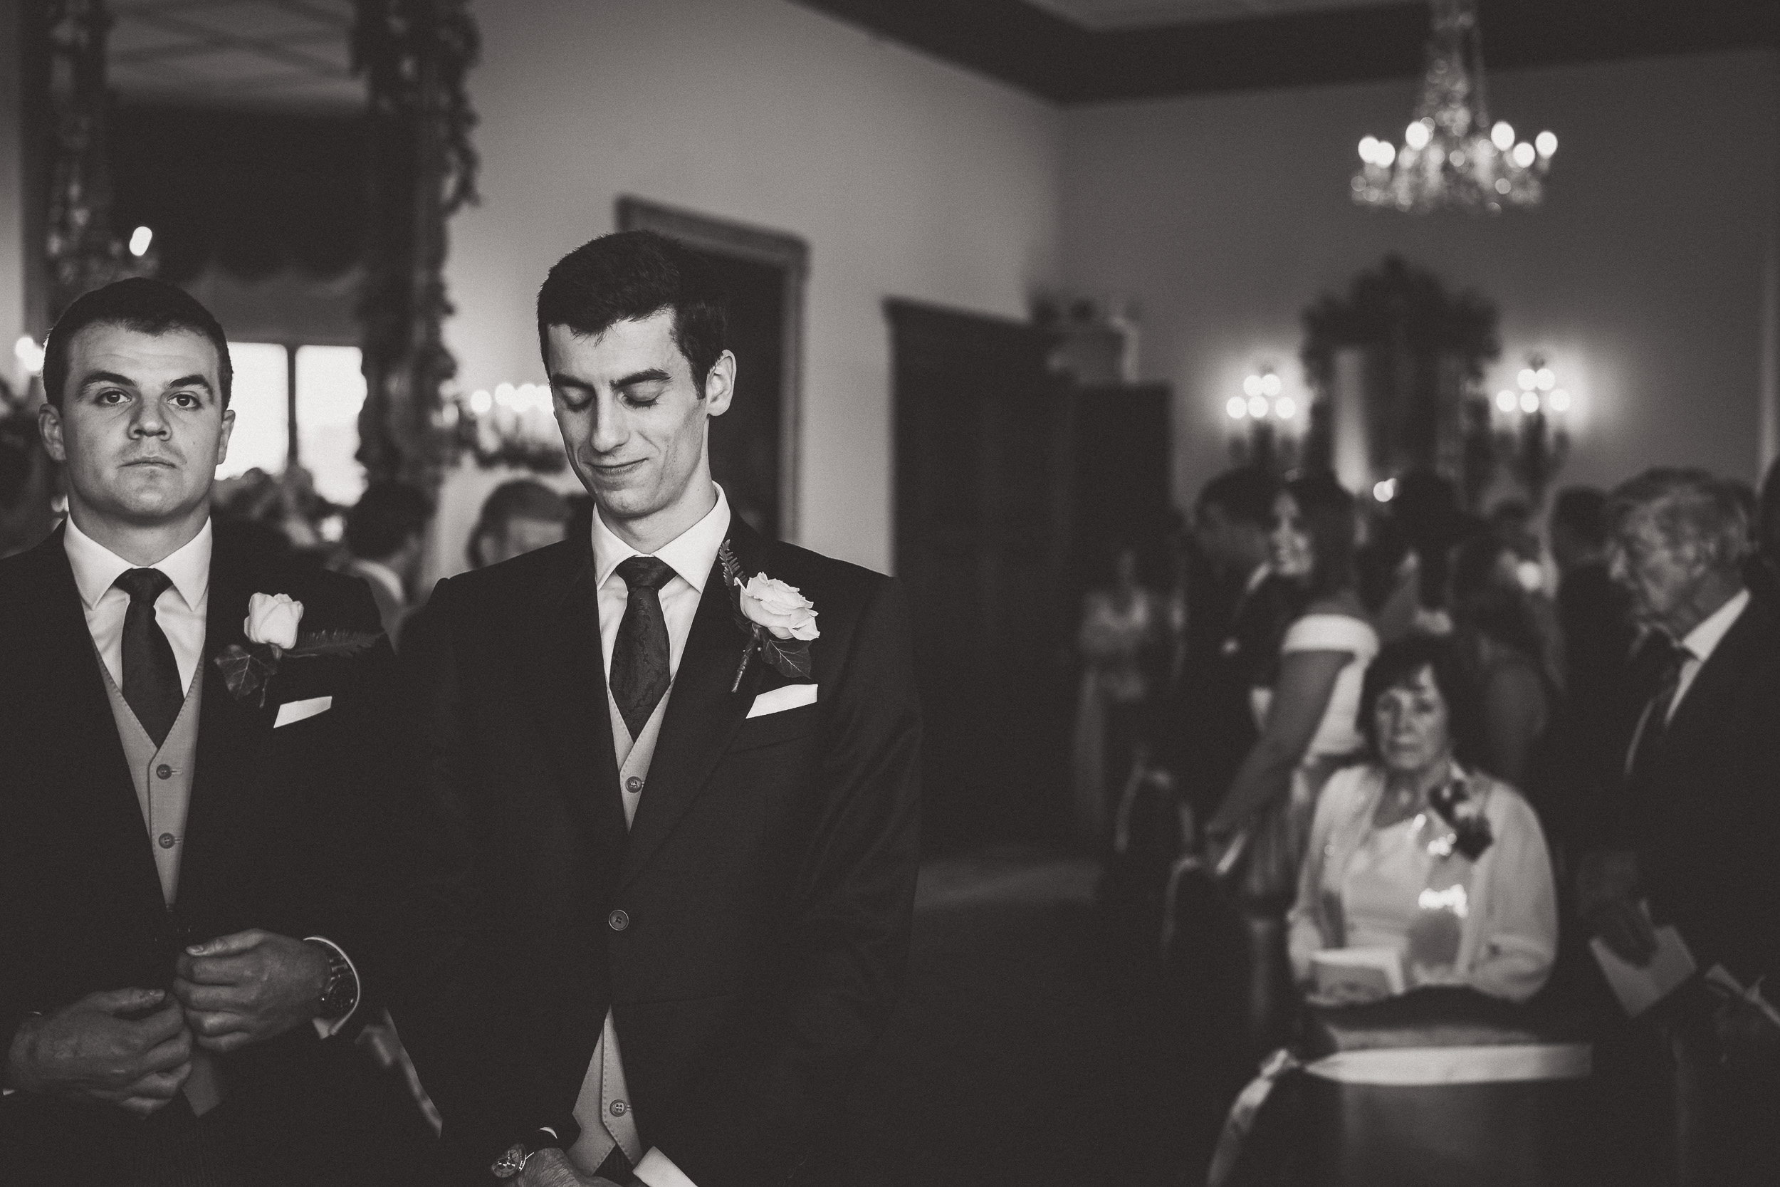
[[[532,689],[570,804],[589,835],[616,854],[625,836],[625,806],[618,794],[612,721],[605,710],[600,598],[593,577],[593,552],[586,541],[564,550],[562,593],[539,616]]]

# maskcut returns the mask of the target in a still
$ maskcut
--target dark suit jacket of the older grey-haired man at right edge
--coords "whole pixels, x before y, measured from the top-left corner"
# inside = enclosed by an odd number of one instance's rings
[[[1629,746],[1630,726],[1622,735]],[[1780,621],[1760,598],[1609,812],[1654,918],[1680,927],[1702,970],[1780,975]]]

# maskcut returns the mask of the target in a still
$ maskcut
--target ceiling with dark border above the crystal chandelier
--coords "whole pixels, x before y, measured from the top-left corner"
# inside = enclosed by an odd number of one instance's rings
[[[1056,103],[1412,78],[1426,0],[794,0]],[[1477,0],[1490,68],[1780,48],[1776,0]]]

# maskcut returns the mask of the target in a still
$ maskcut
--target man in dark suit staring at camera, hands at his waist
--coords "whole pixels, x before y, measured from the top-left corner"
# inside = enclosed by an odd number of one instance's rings
[[[43,377],[68,521],[0,561],[0,1178],[365,1182],[335,1036],[376,947],[376,607],[361,582],[214,543],[231,372],[189,295],[80,297]],[[249,623],[251,594],[301,614],[255,598]],[[233,696],[224,650],[299,625],[365,650],[285,655]]]

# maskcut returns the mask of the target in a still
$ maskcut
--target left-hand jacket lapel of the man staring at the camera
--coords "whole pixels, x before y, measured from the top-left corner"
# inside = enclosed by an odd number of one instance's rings
[[[59,707],[53,721],[61,723],[61,753],[69,763],[64,790],[87,801],[89,812],[78,815],[91,820],[93,852],[105,867],[116,863],[128,893],[153,904],[158,913],[160,874],[142,822],[142,806],[135,799],[130,763],[117,739],[117,719],[112,717],[110,698],[105,694],[105,676],[87,630],[75,571],[62,548],[62,530],[57,529],[37,545],[46,634],[41,651],[46,671],[37,687],[43,689],[46,705]],[[27,673],[14,676],[34,678]]]

